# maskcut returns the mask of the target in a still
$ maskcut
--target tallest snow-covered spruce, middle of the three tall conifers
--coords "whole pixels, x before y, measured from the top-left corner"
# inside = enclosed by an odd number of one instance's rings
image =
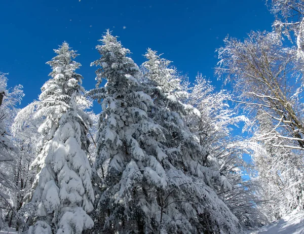
[[[102,100],[103,110],[96,137],[95,168],[101,169],[108,159],[110,162],[103,175],[104,187],[98,206],[104,220],[96,223],[95,231],[99,233],[99,228],[102,228],[103,232],[110,233],[128,233],[131,230],[142,233],[151,225],[150,217],[145,214],[149,211],[149,204],[143,191],[152,182],[149,172],[154,173],[154,183],[157,183],[159,176],[155,167],[159,165],[155,158],[151,159],[151,163],[155,164],[154,169],[145,170],[149,165],[148,157],[141,149],[138,137],[143,137],[143,131],[149,134],[154,129],[161,130],[147,119],[146,110],[153,102],[141,91],[139,68],[126,57],[129,50],[123,48],[109,31],[101,41],[103,45],[97,46],[101,58],[92,65],[102,68],[96,71],[96,89],[89,92],[92,98],[99,102]],[[104,88],[98,88],[102,79],[106,79],[107,84]],[[145,186],[144,179],[148,182]]]

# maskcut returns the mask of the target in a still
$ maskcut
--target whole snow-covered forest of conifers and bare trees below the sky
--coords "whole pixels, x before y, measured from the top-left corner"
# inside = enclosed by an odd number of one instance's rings
[[[137,65],[109,29],[94,89],[67,42],[24,108],[0,73],[0,230],[233,234],[304,212],[304,2],[266,4],[271,31],[217,49],[221,90],[153,49]]]

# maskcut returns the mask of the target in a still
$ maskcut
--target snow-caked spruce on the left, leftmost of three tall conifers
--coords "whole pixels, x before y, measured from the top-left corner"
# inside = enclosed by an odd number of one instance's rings
[[[94,193],[87,158],[90,121],[79,108],[85,100],[82,76],[75,73],[77,54],[63,43],[51,61],[51,79],[42,87],[36,117],[40,126],[39,155],[33,165],[41,168],[36,177],[32,203],[37,205],[29,233],[82,233],[93,227],[87,214],[93,209]]]

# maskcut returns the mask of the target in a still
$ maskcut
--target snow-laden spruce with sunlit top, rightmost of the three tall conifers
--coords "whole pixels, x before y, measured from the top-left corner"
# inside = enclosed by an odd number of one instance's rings
[[[237,220],[218,199],[214,190],[214,184],[223,187],[230,187],[230,184],[218,171],[206,167],[206,150],[183,121],[185,114],[191,112],[199,115],[199,112],[191,105],[184,105],[178,100],[185,93],[181,92],[176,70],[168,67],[170,62],[160,59],[152,50],[148,50],[146,57],[151,59],[142,67],[145,80],[150,86],[146,85],[144,89],[154,100],[147,116],[150,121],[161,126],[165,136],[165,140],[151,140],[155,143],[155,158],[164,168],[168,180],[167,188],[156,193],[162,214],[160,227],[163,231],[182,232],[185,231],[182,227],[191,225],[192,233],[234,233],[237,231]],[[160,82],[164,80],[174,86]],[[174,204],[178,212],[169,211],[168,203]],[[175,217],[172,217],[172,214],[176,213],[184,218],[184,222],[189,223],[174,223]]]

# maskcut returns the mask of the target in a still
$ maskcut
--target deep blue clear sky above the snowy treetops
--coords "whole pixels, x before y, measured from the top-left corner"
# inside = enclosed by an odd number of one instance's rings
[[[264,0],[0,0],[0,9],[0,71],[9,73],[9,86],[23,85],[22,107],[38,98],[51,71],[45,63],[64,41],[81,54],[77,72],[87,90],[95,86],[90,63],[107,28],[138,65],[151,48],[191,80],[199,71],[220,87],[213,67],[223,38],[270,30],[274,20]]]

